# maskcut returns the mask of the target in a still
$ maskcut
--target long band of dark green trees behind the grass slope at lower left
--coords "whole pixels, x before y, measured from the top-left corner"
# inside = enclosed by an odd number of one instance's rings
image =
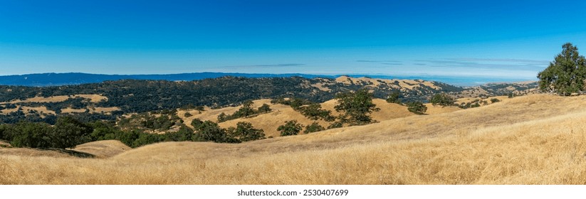
[[[193,129],[182,125],[178,131],[150,134],[141,129],[122,130],[115,122],[80,122],[73,117],[59,117],[55,125],[44,122],[18,122],[1,124],[0,139],[14,147],[40,149],[66,149],[90,141],[116,139],[130,147],[144,146],[161,141],[214,141],[239,143],[264,139],[261,129],[254,129],[248,122],[239,122],[236,127],[221,129],[210,121],[194,120]]]

